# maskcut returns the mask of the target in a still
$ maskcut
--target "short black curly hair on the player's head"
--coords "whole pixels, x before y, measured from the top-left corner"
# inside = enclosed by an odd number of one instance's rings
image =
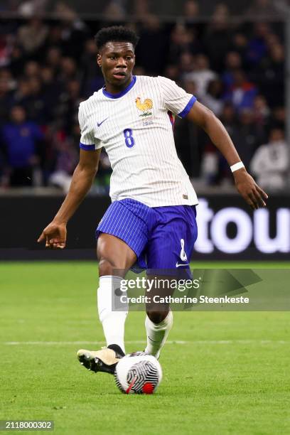
[[[95,36],[97,49],[100,50],[107,42],[129,42],[136,47],[139,37],[130,28],[124,26],[111,26],[101,28]]]

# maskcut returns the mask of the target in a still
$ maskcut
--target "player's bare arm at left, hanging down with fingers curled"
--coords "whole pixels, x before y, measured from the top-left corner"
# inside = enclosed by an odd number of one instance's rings
[[[67,222],[92,186],[97,173],[100,154],[101,149],[92,151],[80,149],[80,161],[73,173],[68,195],[66,195],[53,221],[45,227],[38,238],[38,242],[45,240],[45,247],[53,249],[63,249],[65,247]]]

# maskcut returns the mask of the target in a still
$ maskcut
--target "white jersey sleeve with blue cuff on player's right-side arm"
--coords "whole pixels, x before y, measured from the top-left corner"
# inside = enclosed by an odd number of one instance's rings
[[[194,95],[188,94],[176,82],[166,77],[159,76],[159,84],[163,92],[163,99],[166,109],[178,117],[184,118],[196,101]]]

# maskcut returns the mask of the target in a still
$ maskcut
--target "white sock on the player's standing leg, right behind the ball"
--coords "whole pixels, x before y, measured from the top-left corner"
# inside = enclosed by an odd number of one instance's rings
[[[148,316],[145,319],[145,328],[147,334],[146,353],[159,358],[160,351],[166,342],[168,333],[173,325],[173,314],[169,311],[166,318],[161,323],[153,323]]]

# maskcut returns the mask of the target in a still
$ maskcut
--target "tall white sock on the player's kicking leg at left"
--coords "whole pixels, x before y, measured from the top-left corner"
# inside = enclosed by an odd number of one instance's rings
[[[112,311],[112,294],[115,289],[120,288],[121,280],[120,276],[100,276],[100,287],[97,289],[97,308],[107,346],[117,344],[125,353],[124,326],[128,314],[128,306],[122,304],[124,311]],[[125,294],[124,291],[122,294]],[[115,298],[117,298],[116,295],[114,295],[114,301],[117,301]]]

